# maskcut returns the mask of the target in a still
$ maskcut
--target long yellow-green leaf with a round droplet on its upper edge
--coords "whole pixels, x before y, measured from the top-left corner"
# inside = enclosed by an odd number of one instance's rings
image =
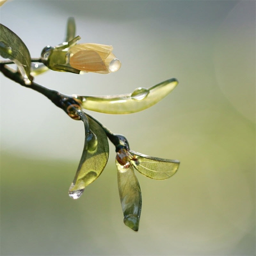
[[[88,110],[106,114],[130,114],[149,108],[162,100],[176,87],[175,78],[166,80],[155,86],[137,88],[134,92],[112,96],[77,96],[82,101],[82,107]]]

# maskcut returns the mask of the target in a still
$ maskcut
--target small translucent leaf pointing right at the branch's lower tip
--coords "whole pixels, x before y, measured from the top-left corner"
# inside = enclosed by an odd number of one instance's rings
[[[155,180],[165,180],[177,172],[180,161],[158,158],[143,155],[129,150],[132,155],[136,155],[137,160],[131,161],[134,168],[141,174]]]

